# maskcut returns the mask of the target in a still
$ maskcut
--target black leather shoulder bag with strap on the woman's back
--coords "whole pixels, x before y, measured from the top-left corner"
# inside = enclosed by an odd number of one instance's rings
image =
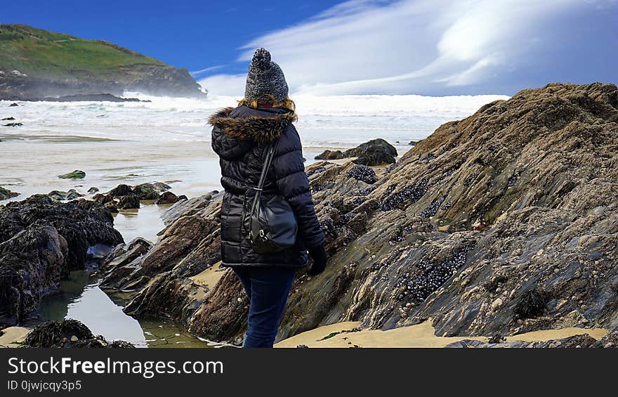
[[[262,197],[266,174],[274,154],[275,146],[270,144],[258,186],[247,190],[244,196],[244,227],[258,254],[280,252],[296,242],[296,216],[285,197],[280,194],[272,195],[267,200]],[[254,194],[251,195],[251,192]]]

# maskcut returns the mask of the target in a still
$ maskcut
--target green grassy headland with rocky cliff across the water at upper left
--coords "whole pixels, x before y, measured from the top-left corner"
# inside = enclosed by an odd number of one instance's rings
[[[27,77],[18,80],[13,70]],[[14,96],[27,97],[53,96],[55,91],[57,95],[121,93],[124,89],[199,96],[199,86],[185,69],[107,41],[27,25],[0,26],[0,71],[4,72],[0,73],[0,93],[5,97],[11,96],[11,90]]]

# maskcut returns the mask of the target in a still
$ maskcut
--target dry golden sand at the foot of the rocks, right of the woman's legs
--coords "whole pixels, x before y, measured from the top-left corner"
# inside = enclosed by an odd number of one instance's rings
[[[358,322],[336,323],[326,325],[284,339],[275,344],[275,347],[296,347],[306,345],[309,347],[379,347],[379,348],[440,348],[463,339],[488,341],[489,337],[438,337],[430,321],[410,325],[408,327],[395,328],[393,330],[360,330],[349,332],[358,327]],[[507,341],[548,341],[561,339],[574,335],[589,334],[595,339],[600,339],[608,333],[602,328],[565,328],[563,330],[544,330],[519,334],[508,337]]]

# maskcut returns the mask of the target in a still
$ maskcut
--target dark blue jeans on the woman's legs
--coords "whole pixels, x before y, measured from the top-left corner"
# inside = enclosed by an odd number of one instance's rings
[[[242,347],[272,347],[296,269],[247,267],[234,273],[251,301]]]

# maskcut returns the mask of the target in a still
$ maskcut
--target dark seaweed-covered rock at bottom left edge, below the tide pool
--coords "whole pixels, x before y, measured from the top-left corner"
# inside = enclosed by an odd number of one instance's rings
[[[133,348],[127,341],[108,342],[95,336],[83,323],[72,318],[46,321],[34,327],[22,344],[24,347],[44,348]]]

